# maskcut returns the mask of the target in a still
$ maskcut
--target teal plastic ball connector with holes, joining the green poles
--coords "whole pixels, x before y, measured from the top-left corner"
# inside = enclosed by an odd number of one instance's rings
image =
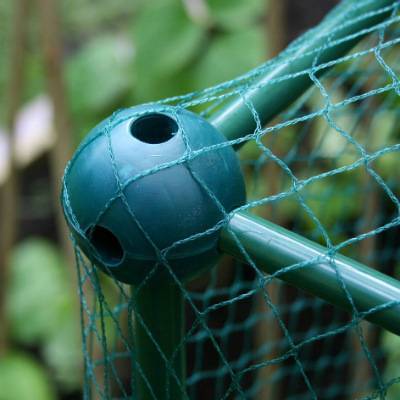
[[[93,264],[139,285],[187,281],[214,265],[219,230],[245,198],[235,152],[215,127],[181,108],[145,105],[89,133],[67,165],[61,200]]]

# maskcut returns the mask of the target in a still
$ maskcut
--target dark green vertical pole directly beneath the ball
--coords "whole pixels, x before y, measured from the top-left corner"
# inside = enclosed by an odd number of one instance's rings
[[[174,284],[145,284],[136,293],[134,388],[140,400],[178,400],[185,394],[184,301]]]

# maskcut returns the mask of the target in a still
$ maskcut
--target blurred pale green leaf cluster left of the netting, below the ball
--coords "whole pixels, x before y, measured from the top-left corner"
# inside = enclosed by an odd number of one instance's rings
[[[60,250],[47,240],[27,239],[14,248],[10,274],[6,304],[13,339],[39,347],[53,379],[63,390],[76,389],[82,373],[76,289]]]

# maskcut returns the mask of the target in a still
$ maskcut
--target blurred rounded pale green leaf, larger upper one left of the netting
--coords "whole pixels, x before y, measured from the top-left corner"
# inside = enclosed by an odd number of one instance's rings
[[[57,248],[28,239],[14,248],[7,292],[10,329],[27,343],[46,340],[59,328],[62,310],[72,302],[69,274]]]

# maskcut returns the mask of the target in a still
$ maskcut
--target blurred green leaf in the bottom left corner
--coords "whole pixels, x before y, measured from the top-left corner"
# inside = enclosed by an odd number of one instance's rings
[[[44,369],[23,354],[9,354],[0,359],[0,400],[56,399]]]

